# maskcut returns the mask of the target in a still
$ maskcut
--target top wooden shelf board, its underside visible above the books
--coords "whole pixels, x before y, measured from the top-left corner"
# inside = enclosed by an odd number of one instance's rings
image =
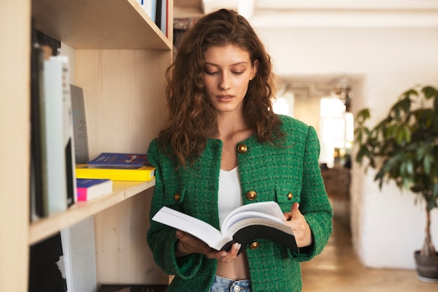
[[[171,50],[136,0],[33,0],[36,29],[76,49]]]

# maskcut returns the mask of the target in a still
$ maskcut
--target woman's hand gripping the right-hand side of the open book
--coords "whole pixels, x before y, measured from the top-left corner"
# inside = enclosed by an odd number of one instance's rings
[[[285,223],[292,228],[298,247],[309,246],[312,244],[312,232],[298,207],[299,204],[295,202],[292,204],[290,212],[284,213]]]

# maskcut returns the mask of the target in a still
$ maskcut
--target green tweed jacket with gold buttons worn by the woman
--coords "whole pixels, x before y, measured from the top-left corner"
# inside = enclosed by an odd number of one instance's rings
[[[243,204],[276,201],[283,212],[288,212],[294,202],[299,202],[299,209],[310,225],[313,244],[299,254],[268,239],[257,239],[256,249],[248,245],[246,255],[253,292],[301,291],[299,262],[320,253],[332,233],[332,207],[320,174],[316,131],[294,118],[281,116],[281,120],[281,130],[286,134],[282,147],[259,143],[255,136],[236,145]],[[156,185],[150,218],[167,206],[219,229],[221,149],[222,141],[209,139],[195,165],[175,171],[174,162],[157,146],[156,140],[152,141],[148,159],[156,167]],[[175,230],[154,221],[150,223],[147,238],[155,262],[167,274],[175,275],[168,291],[208,292],[217,261],[199,253],[177,259]]]

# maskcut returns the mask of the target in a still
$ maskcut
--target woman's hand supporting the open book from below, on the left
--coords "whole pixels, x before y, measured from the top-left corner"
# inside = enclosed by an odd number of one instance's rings
[[[202,253],[207,258],[216,258],[216,260],[220,260],[224,263],[235,260],[241,246],[241,244],[235,243],[229,251],[216,251],[216,249],[211,249],[211,247],[202,240],[181,230],[176,230],[176,238],[178,238],[175,246],[176,257],[188,256],[190,253]]]

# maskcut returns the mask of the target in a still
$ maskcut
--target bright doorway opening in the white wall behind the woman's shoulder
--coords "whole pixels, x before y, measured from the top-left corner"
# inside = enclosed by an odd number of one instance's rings
[[[274,111],[313,126],[320,138],[320,167],[334,219],[351,228],[351,149],[354,99],[362,76],[281,76]]]

